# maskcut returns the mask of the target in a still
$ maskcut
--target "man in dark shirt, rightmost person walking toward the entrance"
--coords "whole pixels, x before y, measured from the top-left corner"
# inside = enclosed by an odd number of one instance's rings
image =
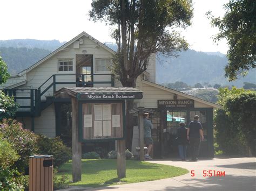
[[[187,129],[187,140],[190,141],[190,148],[191,148],[190,151],[191,151],[193,161],[198,160],[197,157],[199,154],[200,143],[202,140],[204,140],[203,128],[201,123],[198,121],[198,119],[199,119],[199,116],[195,115],[194,121],[188,124],[188,129]]]

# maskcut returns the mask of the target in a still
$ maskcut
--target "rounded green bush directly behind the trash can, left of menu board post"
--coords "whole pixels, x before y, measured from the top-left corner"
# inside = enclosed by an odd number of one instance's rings
[[[65,146],[59,137],[48,138],[38,135],[37,145],[39,154],[53,155],[53,166],[59,167],[71,158],[71,148]]]

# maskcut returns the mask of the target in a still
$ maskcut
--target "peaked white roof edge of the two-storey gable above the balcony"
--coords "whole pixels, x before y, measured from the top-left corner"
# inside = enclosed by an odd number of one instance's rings
[[[38,62],[36,62],[34,65],[30,66],[27,69],[24,69],[22,72],[20,72],[18,75],[22,76],[25,73],[28,73],[30,70],[32,70],[33,68],[37,67],[38,65],[40,65],[42,62],[44,62],[45,60],[48,60],[49,58],[51,58],[51,56],[55,55],[56,53],[62,51],[64,48],[68,47],[69,45],[71,45],[72,43],[74,43],[75,41],[79,40],[80,38],[82,38],[83,36],[91,39],[92,41],[94,41],[97,45],[99,45],[100,47],[103,47],[104,49],[106,49],[106,51],[109,51],[110,53],[114,54],[116,52],[114,52],[111,48],[107,47],[106,45],[104,45],[103,43],[100,43],[100,41],[96,40],[95,38],[93,38],[92,36],[90,36],[89,34],[87,34],[86,32],[82,32],[80,34],[78,34],[78,36],[76,36],[75,38],[73,38],[72,40],[68,41],[68,43],[60,46],[58,49],[56,49],[55,51],[53,51],[52,53],[50,53],[49,55],[45,56],[43,59],[39,60]]]

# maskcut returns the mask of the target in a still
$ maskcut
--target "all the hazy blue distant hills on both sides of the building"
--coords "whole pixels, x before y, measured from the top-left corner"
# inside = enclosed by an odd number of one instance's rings
[[[0,40],[0,55],[7,63],[9,72],[14,75],[28,68],[37,61],[62,46],[58,40],[16,39]],[[114,51],[117,45],[104,43]],[[157,83],[174,83],[182,81],[190,86],[196,83],[215,83],[221,86],[242,87],[243,82],[256,82],[256,69],[251,70],[246,77],[235,82],[228,82],[224,77],[224,67],[227,64],[225,54],[220,52],[197,52],[188,50],[180,52],[178,58],[157,56]]]

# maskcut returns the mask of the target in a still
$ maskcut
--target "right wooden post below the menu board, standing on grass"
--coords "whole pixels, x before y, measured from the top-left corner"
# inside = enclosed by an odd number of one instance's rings
[[[117,176],[119,179],[126,176],[125,140],[117,140]]]

